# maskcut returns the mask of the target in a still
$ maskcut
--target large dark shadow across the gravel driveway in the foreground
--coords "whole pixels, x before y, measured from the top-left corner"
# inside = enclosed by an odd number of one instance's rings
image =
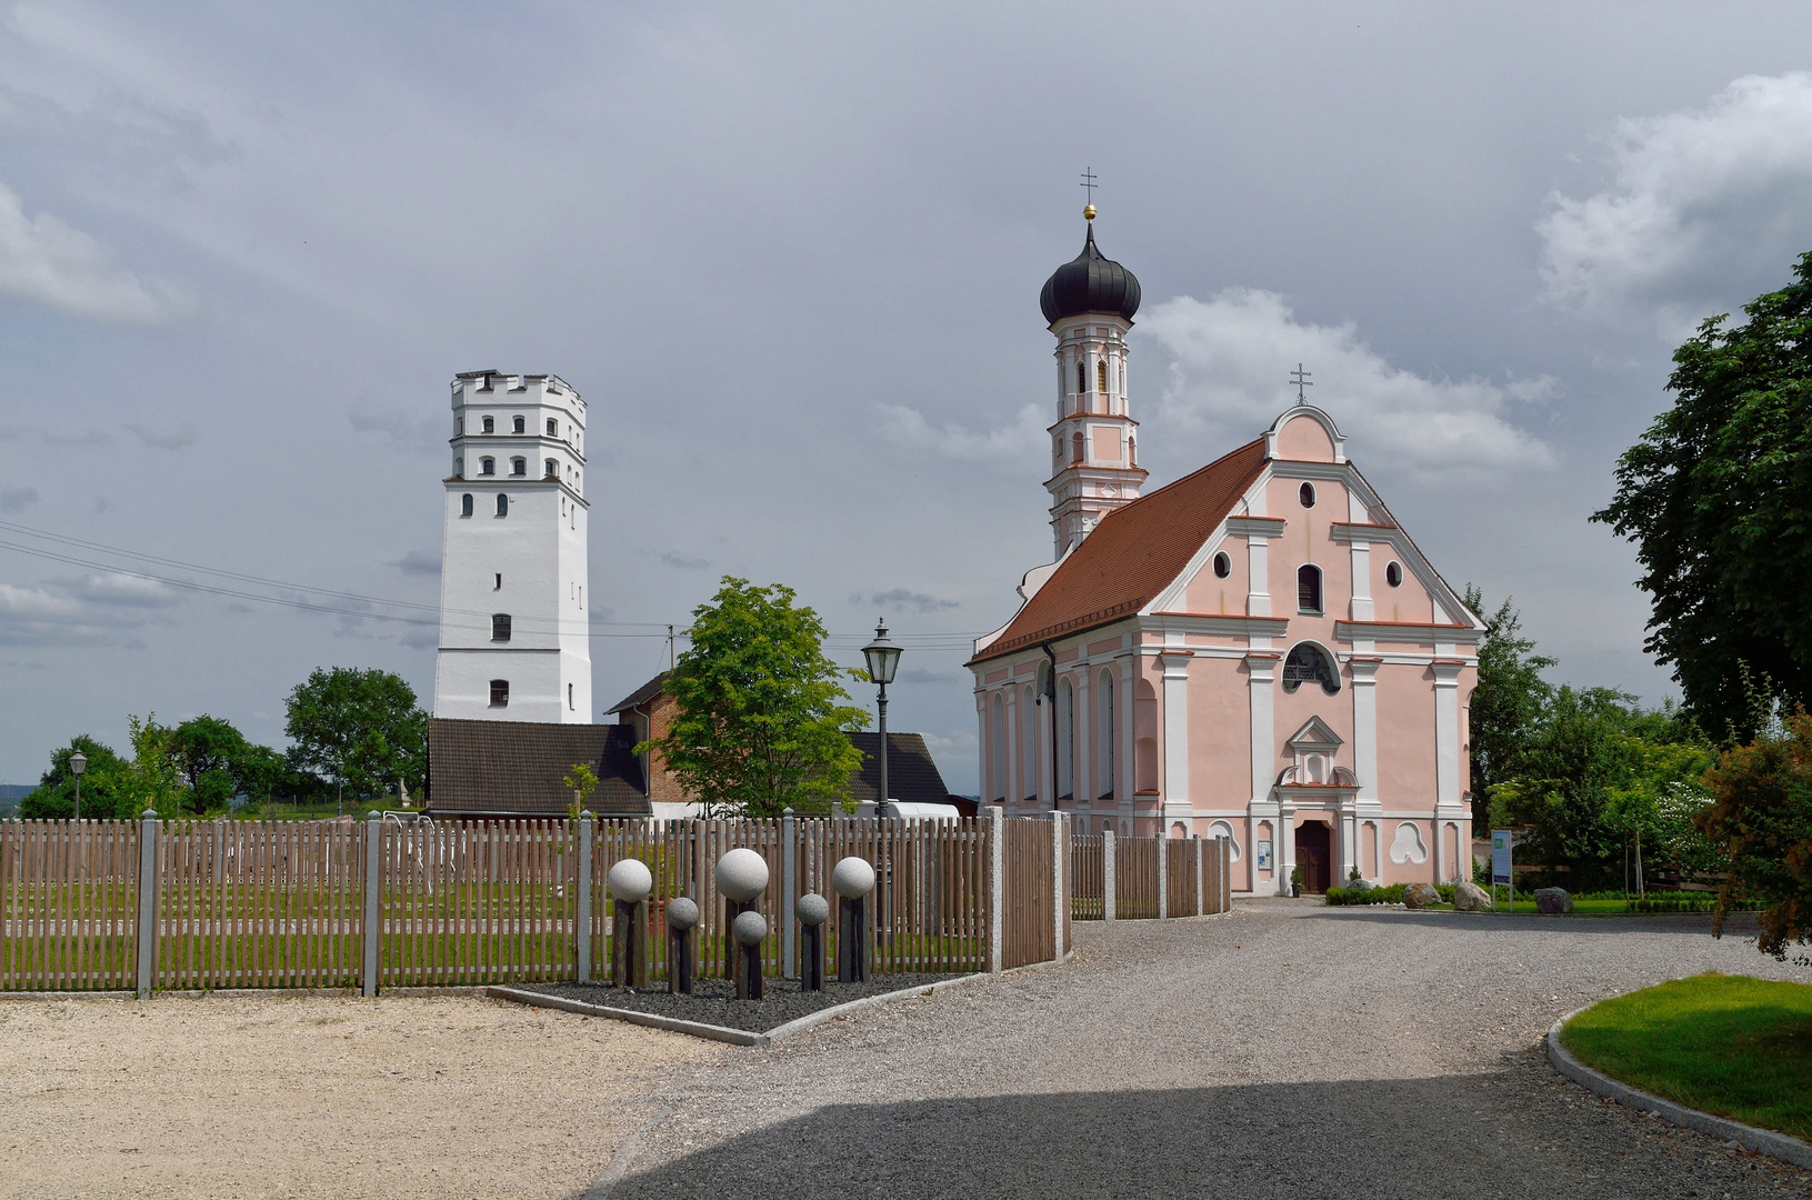
[[[1100,1013],[1100,1019],[1111,1019]],[[1279,1055],[1316,1057],[1337,1021],[1301,1022]],[[1053,1055],[1085,1062],[1075,1031]],[[1080,1035],[1080,1037],[1078,1037]],[[1178,1048],[1212,1055],[1212,1046]],[[1379,1046],[1381,1057],[1390,1048]],[[725,1079],[734,1089],[730,1077]],[[661,1196],[1803,1196],[1807,1176],[1587,1100],[1535,1062],[1413,1080],[1084,1091],[824,1108],[660,1162],[683,1106],[611,1200]],[[716,1102],[714,1102],[716,1104]],[[732,1098],[723,1100],[734,1106]]]

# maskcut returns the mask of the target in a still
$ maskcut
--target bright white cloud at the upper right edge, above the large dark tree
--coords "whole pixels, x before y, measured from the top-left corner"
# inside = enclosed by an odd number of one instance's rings
[[[1812,248],[1812,74],[1749,74],[1703,109],[1622,120],[1611,187],[1537,223],[1551,303],[1669,335],[1781,286]]]

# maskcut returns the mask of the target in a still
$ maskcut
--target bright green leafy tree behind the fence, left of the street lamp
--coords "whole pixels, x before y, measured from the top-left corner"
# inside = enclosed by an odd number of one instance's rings
[[[674,720],[643,741],[707,812],[770,818],[783,808],[852,807],[861,752],[846,729],[868,725],[848,703],[844,673],[824,654],[824,624],[779,584],[723,576],[692,609],[692,647],[667,676]]]

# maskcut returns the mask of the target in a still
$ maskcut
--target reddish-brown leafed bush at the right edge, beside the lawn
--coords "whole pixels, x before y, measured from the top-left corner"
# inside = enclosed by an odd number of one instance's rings
[[[1711,787],[1716,801],[1700,827],[1730,872],[1714,930],[1723,932],[1732,901],[1756,901],[1756,946],[1785,959],[1788,943],[1812,941],[1812,716],[1799,711],[1781,732],[1725,750]]]

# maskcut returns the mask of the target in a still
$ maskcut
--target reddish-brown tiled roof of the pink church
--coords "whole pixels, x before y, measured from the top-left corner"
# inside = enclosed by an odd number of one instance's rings
[[[1104,517],[971,662],[1138,613],[1183,573],[1263,466],[1265,439],[1256,439]]]

